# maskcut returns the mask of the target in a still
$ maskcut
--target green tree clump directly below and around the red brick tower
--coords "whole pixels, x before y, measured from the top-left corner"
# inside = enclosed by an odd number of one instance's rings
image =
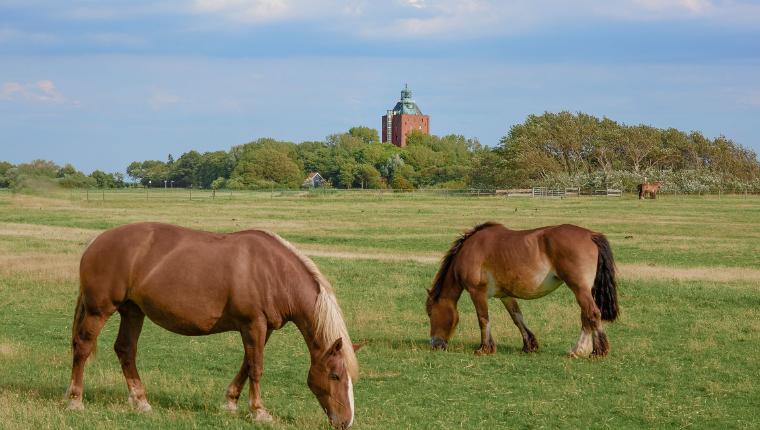
[[[189,151],[176,160],[134,161],[127,174],[147,186],[164,181],[179,187],[261,189],[300,187],[319,172],[336,188],[465,187],[477,140],[414,133],[408,146],[380,143],[378,132],[353,127],[324,141],[299,144],[262,138],[229,151]]]

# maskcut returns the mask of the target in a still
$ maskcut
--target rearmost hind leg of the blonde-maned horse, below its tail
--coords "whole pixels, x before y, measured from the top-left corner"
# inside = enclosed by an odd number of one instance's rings
[[[77,303],[77,311],[74,318],[73,336],[71,340],[72,349],[72,366],[71,366],[71,383],[66,390],[66,399],[68,408],[72,410],[84,409],[82,403],[82,394],[84,392],[84,365],[87,358],[94,351],[95,345],[100,334],[100,330],[108,318],[113,314],[113,310],[100,311],[94,313],[88,311],[85,304],[80,301]]]

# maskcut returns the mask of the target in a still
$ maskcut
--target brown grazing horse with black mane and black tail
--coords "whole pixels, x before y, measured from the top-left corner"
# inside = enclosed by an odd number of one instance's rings
[[[509,230],[485,223],[457,239],[428,291],[430,345],[446,349],[459,322],[457,302],[467,290],[480,323],[476,354],[493,354],[488,299],[498,297],[523,338],[523,351],[538,350],[516,299],[543,297],[562,283],[581,308],[581,335],[571,357],[604,356],[610,346],[601,321],[618,315],[615,263],[604,235],[574,225]]]

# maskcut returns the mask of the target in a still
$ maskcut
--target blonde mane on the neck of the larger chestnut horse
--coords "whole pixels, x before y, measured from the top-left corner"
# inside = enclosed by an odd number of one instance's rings
[[[319,295],[317,296],[317,302],[314,306],[316,335],[319,337],[320,343],[325,347],[332,345],[332,343],[338,338],[343,339],[342,351],[346,370],[348,371],[348,374],[351,375],[351,379],[354,381],[358,380],[359,363],[356,360],[353,344],[348,335],[348,328],[343,320],[343,313],[340,310],[338,300],[335,298],[335,292],[333,291],[330,282],[325,278],[322,272],[319,271],[319,268],[317,268],[317,265],[314,264],[311,258],[296,249],[293,244],[276,233],[266,230],[261,231],[276,239],[282,244],[282,246],[298,257],[314,281],[319,285]]]

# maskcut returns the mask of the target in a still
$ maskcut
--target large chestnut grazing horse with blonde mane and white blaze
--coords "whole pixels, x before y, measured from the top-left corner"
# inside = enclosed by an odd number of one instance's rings
[[[121,325],[114,350],[129,389],[129,403],[150,411],[135,366],[143,320],[175,333],[198,336],[237,331],[243,364],[227,387],[226,408],[250,380],[249,407],[257,421],[271,421],[259,381],[264,345],[292,321],[311,355],[308,385],[330,423],[348,428],[354,419],[352,381],[358,363],[332,287],[314,263],[274,233],[214,234],[159,224],[130,224],[98,236],[79,268],[74,314],[74,353],[68,407],[82,409],[84,365],[106,320]]]

